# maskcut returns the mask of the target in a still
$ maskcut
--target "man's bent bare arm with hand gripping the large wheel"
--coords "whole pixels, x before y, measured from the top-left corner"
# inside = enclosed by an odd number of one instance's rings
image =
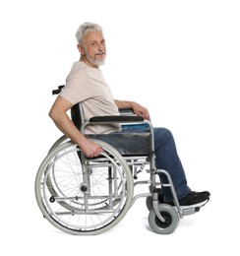
[[[79,145],[86,157],[93,158],[99,156],[102,149],[94,142],[88,140],[67,115],[67,111],[72,106],[73,104],[67,99],[58,96],[49,111],[49,116],[63,134]]]

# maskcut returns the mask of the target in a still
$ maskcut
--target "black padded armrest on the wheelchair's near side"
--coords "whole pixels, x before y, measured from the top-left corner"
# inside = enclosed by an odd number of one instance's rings
[[[90,118],[90,123],[102,123],[102,122],[143,122],[145,119],[142,116],[137,115],[108,115],[108,116],[94,116]]]

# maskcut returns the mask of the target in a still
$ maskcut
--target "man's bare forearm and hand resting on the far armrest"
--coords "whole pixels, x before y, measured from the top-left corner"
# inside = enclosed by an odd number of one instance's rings
[[[119,99],[114,99],[114,100],[118,108],[133,108],[133,111],[135,114],[143,116],[145,119],[150,120],[149,111],[145,106],[135,101],[119,100]]]

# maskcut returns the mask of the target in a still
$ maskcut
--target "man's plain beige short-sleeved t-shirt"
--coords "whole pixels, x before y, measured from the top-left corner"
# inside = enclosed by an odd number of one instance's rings
[[[118,107],[101,70],[92,68],[83,61],[73,64],[60,96],[72,104],[81,103],[85,120],[90,120],[92,116],[119,115]],[[118,124],[104,124],[88,126],[86,133],[111,133],[119,130]]]

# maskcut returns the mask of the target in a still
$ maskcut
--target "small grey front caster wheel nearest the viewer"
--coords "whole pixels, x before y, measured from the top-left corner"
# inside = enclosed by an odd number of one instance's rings
[[[149,224],[150,228],[160,234],[168,234],[175,230],[179,222],[177,211],[170,205],[159,204],[158,211],[164,218],[165,222],[161,222],[155,215],[153,209],[150,210]]]

